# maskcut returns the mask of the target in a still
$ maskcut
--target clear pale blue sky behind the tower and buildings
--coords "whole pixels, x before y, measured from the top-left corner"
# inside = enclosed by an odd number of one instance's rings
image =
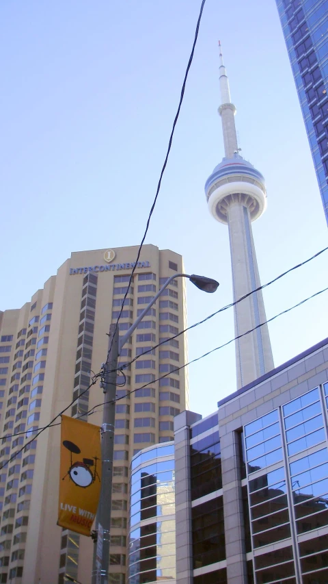
[[[72,251],[141,241],[199,9],[200,0],[1,3],[1,309],[28,301]],[[189,325],[232,299],[228,229],[204,196],[223,157],[218,39],[241,153],[267,181],[267,212],[253,224],[262,283],[327,245],[275,1],[207,0],[146,240],[219,280],[213,296],[188,285]],[[264,292],[268,318],[327,286],[327,253]],[[276,365],[325,338],[327,293],[269,331]],[[189,358],[233,336],[230,310],[191,331]],[[213,411],[236,387],[233,345],[191,365],[189,384],[191,409]]]

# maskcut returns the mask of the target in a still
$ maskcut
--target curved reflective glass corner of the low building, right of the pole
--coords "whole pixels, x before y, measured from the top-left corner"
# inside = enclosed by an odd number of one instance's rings
[[[175,581],[174,444],[141,450],[131,463],[128,583]]]

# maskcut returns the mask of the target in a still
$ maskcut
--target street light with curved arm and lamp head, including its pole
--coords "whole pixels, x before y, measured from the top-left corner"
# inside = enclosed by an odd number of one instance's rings
[[[110,544],[110,529],[111,529],[111,489],[113,483],[113,450],[114,450],[114,429],[115,429],[115,395],[116,395],[116,372],[118,370],[118,356],[122,351],[122,347],[127,342],[128,338],[139,322],[146,316],[149,309],[161,296],[163,290],[167,288],[169,283],[176,278],[189,278],[189,280],[203,292],[213,294],[219,286],[219,282],[205,276],[197,276],[195,274],[188,275],[178,273],[167,279],[161,290],[155,294],[152,301],[139,314],[137,320],[126,331],[125,335],[119,340],[119,329],[117,325],[110,325],[109,327],[109,354],[105,364],[105,382],[102,383],[104,390],[104,413],[102,417],[102,441],[101,441],[101,458],[102,458],[102,478],[101,478],[101,492],[100,500],[96,518],[96,531],[98,531],[98,542],[94,547],[94,559],[92,566],[92,584],[98,584],[100,576],[100,584],[107,584],[107,574],[109,567],[109,544]],[[108,399],[107,399],[108,398]],[[99,529],[100,526],[100,529]],[[100,539],[102,534],[102,540]]]

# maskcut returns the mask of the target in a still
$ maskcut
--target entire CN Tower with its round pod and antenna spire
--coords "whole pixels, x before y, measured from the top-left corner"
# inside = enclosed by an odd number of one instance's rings
[[[210,214],[228,225],[234,301],[260,286],[251,222],[264,213],[267,191],[264,177],[239,154],[226,67],[219,42],[219,83],[225,157],[215,166],[205,185]],[[236,373],[238,388],[273,369],[273,356],[266,322],[262,290],[234,306]],[[241,336],[251,329],[256,330]]]

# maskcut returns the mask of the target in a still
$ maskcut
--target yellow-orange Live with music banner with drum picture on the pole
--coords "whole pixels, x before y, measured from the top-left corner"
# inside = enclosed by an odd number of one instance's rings
[[[90,535],[100,496],[100,428],[61,416],[57,524]]]

